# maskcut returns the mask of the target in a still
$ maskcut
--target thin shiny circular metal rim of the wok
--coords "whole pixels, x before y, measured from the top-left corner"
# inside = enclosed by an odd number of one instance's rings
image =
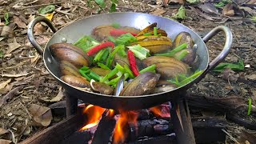
[[[145,14],[145,15],[149,15],[150,17],[153,16],[153,17],[164,18],[164,19],[166,19],[166,20],[168,20],[168,21],[173,21],[173,22],[175,22],[175,23],[178,23],[178,25],[182,25],[182,26],[186,27],[187,29],[191,30],[188,26],[185,26],[185,25],[183,25],[183,24],[180,23],[180,22],[176,22],[176,21],[174,21],[174,20],[172,20],[172,19],[170,19],[170,18],[165,18],[165,17],[162,17],[162,16],[154,15],[154,14],[138,13],[138,12],[114,12],[114,13],[105,13],[105,14],[94,14],[94,15],[90,15],[89,17],[81,18],[81,19],[78,19],[77,21],[71,22],[70,24],[68,24],[68,25],[66,25],[66,26],[63,26],[61,29],[57,30],[57,32],[54,33],[54,34],[51,36],[50,40],[54,37],[54,35],[57,35],[58,32],[61,31],[62,29],[66,28],[67,26],[71,26],[72,24],[74,24],[74,23],[76,23],[76,22],[81,22],[82,20],[84,20],[84,19],[86,19],[86,18],[93,18],[93,17],[98,17],[98,16],[101,16],[101,15],[109,15],[109,14],[127,14],[127,13],[128,13],[128,14]],[[206,53],[207,53],[207,65],[206,65],[206,67],[202,70],[202,74],[204,74],[204,73],[206,72],[208,66],[209,66],[209,59],[210,59],[210,58],[209,58],[209,50],[208,50],[208,48],[207,48],[207,46],[206,46],[206,42],[203,42],[202,38],[201,38],[197,33],[195,33],[194,30],[191,30],[191,31],[192,31],[195,35],[198,36],[198,38],[200,39],[200,41],[202,42],[202,44],[205,46],[205,49],[206,49]],[[46,70],[48,70],[49,73],[50,73],[52,76],[54,76],[55,79],[58,80],[58,83],[59,83],[61,86],[62,86],[62,85],[67,85],[67,86],[72,87],[72,88],[75,89],[75,90],[80,90],[80,91],[85,92],[85,93],[95,94],[95,95],[104,96],[104,97],[113,97],[113,98],[146,98],[146,97],[153,97],[153,96],[157,96],[157,95],[160,96],[160,95],[162,95],[162,94],[163,94],[163,95],[164,95],[164,94],[169,94],[169,93],[171,93],[171,92],[173,92],[173,91],[177,91],[177,90],[179,90],[179,89],[182,90],[182,89],[185,88],[185,89],[187,90],[187,89],[189,89],[189,88],[194,84],[194,82],[197,82],[197,80],[202,76],[202,74],[199,74],[197,78],[194,78],[193,81],[191,81],[191,82],[189,82],[189,83],[186,83],[186,85],[177,87],[177,88],[175,88],[174,90],[165,91],[165,92],[161,92],[161,93],[157,93],[157,94],[146,94],[146,95],[137,95],[137,96],[115,96],[115,95],[99,94],[99,93],[95,93],[95,92],[92,92],[92,91],[81,90],[80,88],[78,88],[78,87],[76,87],[76,86],[71,86],[69,83],[66,83],[66,82],[62,81],[62,79],[61,79],[61,78],[58,78],[55,74],[53,74],[52,71],[51,71],[51,70],[48,68],[48,66],[46,65],[46,58],[49,58],[49,57],[46,57],[46,49],[49,49],[49,46],[48,46],[48,45],[49,45],[50,40],[46,43],[46,46],[45,46],[45,48],[44,48],[44,50],[43,50],[43,55],[42,55],[44,65],[46,66]],[[47,48],[47,47],[48,47],[48,48]],[[201,81],[201,80],[200,80],[200,81]],[[199,82],[200,82],[200,81],[199,81]],[[61,83],[60,83],[60,82],[61,82]],[[189,87],[187,87],[187,86],[189,86]],[[68,90],[67,90],[67,92],[68,92]]]

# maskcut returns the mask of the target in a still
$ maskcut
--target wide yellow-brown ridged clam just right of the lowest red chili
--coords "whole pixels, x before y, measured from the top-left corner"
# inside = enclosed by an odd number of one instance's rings
[[[156,71],[161,78],[174,78],[178,74],[187,74],[188,66],[175,58],[165,56],[153,56],[143,60],[146,66],[156,65]]]

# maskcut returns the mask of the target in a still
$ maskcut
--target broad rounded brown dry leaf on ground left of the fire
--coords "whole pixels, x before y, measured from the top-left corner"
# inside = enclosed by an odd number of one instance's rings
[[[41,126],[49,126],[53,119],[50,108],[32,104],[30,106],[30,114],[33,115],[34,122]]]

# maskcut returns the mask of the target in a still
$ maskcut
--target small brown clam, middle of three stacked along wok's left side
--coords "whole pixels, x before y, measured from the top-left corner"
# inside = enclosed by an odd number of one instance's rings
[[[59,67],[62,75],[74,75],[77,77],[81,76],[78,69],[70,62],[61,61]]]

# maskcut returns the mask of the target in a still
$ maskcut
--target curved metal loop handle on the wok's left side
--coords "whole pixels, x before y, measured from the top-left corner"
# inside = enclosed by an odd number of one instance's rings
[[[38,23],[38,22],[45,22],[50,29],[55,33],[57,31],[56,27],[45,17],[37,17],[34,18],[34,20],[32,20],[29,25],[28,25],[28,29],[27,29],[27,37],[29,38],[32,46],[34,46],[34,48],[38,51],[39,54],[43,54],[43,50],[42,47],[39,46],[38,42],[36,42],[35,38],[34,38],[34,26]]]

